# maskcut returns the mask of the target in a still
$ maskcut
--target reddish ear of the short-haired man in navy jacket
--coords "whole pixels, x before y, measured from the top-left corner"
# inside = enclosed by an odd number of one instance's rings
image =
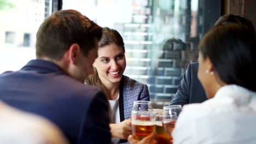
[[[68,49],[69,62],[73,64],[77,64],[79,54],[80,54],[80,46],[78,44],[72,44]]]

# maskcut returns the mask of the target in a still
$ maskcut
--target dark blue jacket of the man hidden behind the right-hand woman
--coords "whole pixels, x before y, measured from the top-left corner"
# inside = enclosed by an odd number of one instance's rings
[[[198,63],[190,63],[183,79],[179,83],[178,91],[171,101],[171,105],[185,105],[202,103],[207,100],[205,90],[197,78]]]

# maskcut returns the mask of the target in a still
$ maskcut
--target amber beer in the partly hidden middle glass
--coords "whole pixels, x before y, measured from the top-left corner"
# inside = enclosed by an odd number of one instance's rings
[[[158,135],[156,135],[156,141],[159,144],[171,143],[171,136],[166,133],[164,127],[162,127],[161,121],[155,122],[155,131],[158,133]]]

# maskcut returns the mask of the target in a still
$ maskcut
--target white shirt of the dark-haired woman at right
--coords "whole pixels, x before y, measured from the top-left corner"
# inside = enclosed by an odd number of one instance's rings
[[[228,85],[201,104],[183,107],[174,143],[256,143],[256,93]]]

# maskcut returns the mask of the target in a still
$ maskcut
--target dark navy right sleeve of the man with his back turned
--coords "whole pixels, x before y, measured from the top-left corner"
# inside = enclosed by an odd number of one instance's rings
[[[78,143],[110,143],[107,99],[102,92],[92,98],[84,119]]]

